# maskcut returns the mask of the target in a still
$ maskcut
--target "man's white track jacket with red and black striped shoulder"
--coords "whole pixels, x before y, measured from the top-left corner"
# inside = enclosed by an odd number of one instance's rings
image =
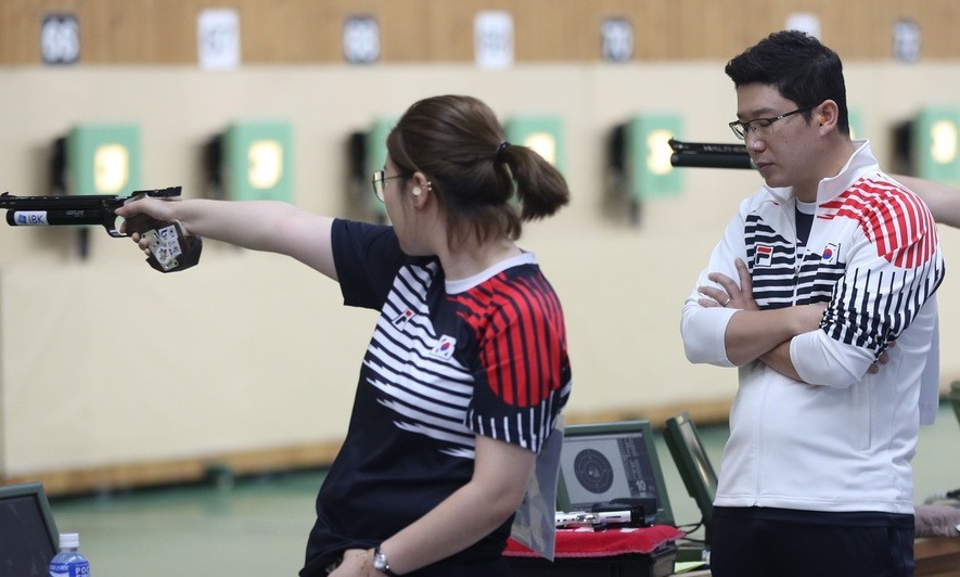
[[[944,277],[923,202],[880,171],[867,141],[820,182],[806,246],[797,247],[792,189],[744,200],[714,248],[709,272],[738,279],[747,264],[760,309],[828,303],[820,329],[793,338],[803,381],[754,361],[739,369],[715,504],[823,512],[913,512],[921,375],[936,379]],[[724,335],[737,312],[687,298],[681,334],[696,363],[732,367]],[[868,369],[888,344],[889,362]],[[932,344],[933,343],[933,344]],[[934,399],[935,402],[935,399]]]

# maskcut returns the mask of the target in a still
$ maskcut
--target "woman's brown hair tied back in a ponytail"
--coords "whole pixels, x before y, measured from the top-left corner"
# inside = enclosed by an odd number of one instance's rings
[[[510,145],[489,106],[472,97],[415,102],[386,140],[402,175],[423,172],[447,216],[451,245],[473,232],[483,242],[520,238],[521,222],[569,202],[560,171],[535,151]],[[520,201],[511,202],[514,193]]]

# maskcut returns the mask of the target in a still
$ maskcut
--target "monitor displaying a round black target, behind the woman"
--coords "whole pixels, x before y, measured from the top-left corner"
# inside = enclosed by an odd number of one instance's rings
[[[660,525],[674,525],[650,421],[567,425],[560,452],[559,511],[589,511],[615,499],[656,499]]]

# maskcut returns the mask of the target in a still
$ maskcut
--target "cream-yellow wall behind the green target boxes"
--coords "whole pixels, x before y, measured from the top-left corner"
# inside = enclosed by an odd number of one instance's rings
[[[414,100],[470,93],[502,118],[563,117],[573,203],[527,228],[568,319],[568,414],[647,414],[728,402],[734,372],[693,367],[679,312],[739,200],[746,170],[684,169],[677,197],[640,227],[605,201],[605,139],[639,112],[682,115],[688,140],[729,142],[734,94],[722,61],[661,64],[190,66],[0,69],[0,189],[42,194],[53,140],[77,121],[141,127],[143,187],[203,191],[201,146],[238,118],[294,126],[296,202],[347,211],[346,138]],[[960,102],[960,67],[848,66],[852,106],[882,161],[891,127],[920,106]],[[364,193],[367,193],[364,189]],[[620,207],[622,208],[622,207]],[[942,231],[948,262],[960,232]],[[126,240],[92,231],[0,228],[0,476],[205,458],[336,443],[374,316],[272,255],[208,242],[199,268],[163,275]],[[949,266],[948,266],[948,270]],[[947,274],[944,294],[958,281]],[[960,375],[956,299],[942,298],[943,381]]]

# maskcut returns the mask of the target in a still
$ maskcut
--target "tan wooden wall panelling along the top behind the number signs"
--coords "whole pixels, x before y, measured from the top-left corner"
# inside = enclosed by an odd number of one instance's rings
[[[77,15],[81,65],[195,63],[205,8],[240,13],[248,64],[342,63],[350,14],[377,20],[381,62],[471,62],[482,10],[513,15],[519,63],[599,61],[600,24],[610,16],[632,22],[638,61],[728,60],[795,12],[818,14],[821,37],[844,60],[889,60],[898,18],[919,24],[923,59],[960,59],[956,0],[3,0],[0,65],[40,63],[48,12]]]

